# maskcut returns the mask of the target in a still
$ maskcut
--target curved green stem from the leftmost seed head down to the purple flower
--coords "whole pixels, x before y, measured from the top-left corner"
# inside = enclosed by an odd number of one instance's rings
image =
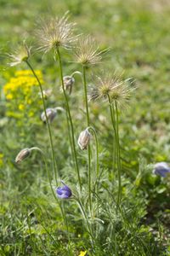
[[[54,156],[54,144],[53,144],[53,138],[52,138],[50,125],[49,125],[49,122],[48,122],[48,116],[47,116],[47,113],[46,113],[46,106],[45,106],[45,100],[44,100],[43,91],[42,91],[42,84],[41,84],[40,80],[38,79],[37,74],[35,73],[33,67],[31,67],[30,62],[26,61],[26,64],[28,65],[28,67],[30,67],[31,72],[33,73],[34,77],[37,79],[37,83],[39,84],[39,87],[40,87],[41,96],[42,96],[43,111],[45,113],[46,123],[47,123],[47,126],[48,126],[48,135],[49,135],[49,141],[50,141],[51,152],[52,152],[54,179],[55,179],[55,183],[57,184],[57,168],[56,168],[56,160],[55,160],[55,156]]]

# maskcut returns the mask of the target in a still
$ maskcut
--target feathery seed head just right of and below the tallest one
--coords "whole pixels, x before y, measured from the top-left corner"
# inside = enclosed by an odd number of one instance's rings
[[[96,45],[94,38],[90,36],[80,38],[77,42],[77,62],[88,67],[99,63],[102,59],[101,55],[105,50],[99,51],[99,46]]]

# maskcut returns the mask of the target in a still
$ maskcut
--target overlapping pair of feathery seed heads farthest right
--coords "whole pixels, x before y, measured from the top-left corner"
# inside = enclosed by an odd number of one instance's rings
[[[116,102],[121,106],[130,101],[135,89],[129,84],[130,79],[122,80],[121,76],[116,76],[115,73],[103,73],[101,77],[97,76],[96,78],[96,86],[92,91],[90,100],[110,98],[111,102]]]

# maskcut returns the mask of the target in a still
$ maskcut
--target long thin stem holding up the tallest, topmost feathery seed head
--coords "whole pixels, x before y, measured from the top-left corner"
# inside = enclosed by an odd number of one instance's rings
[[[68,117],[69,117],[70,124],[71,124],[71,137],[72,137],[72,146],[73,146],[72,148],[73,148],[74,159],[75,159],[75,163],[76,163],[78,183],[79,183],[80,189],[82,189],[82,183],[81,183],[80,172],[79,172],[78,161],[77,161],[77,150],[76,150],[75,137],[74,137],[74,127],[73,127],[73,123],[72,123],[72,119],[71,119],[71,110],[69,107],[69,102],[68,102],[67,95],[65,92],[65,84],[64,84],[64,80],[63,80],[63,68],[62,68],[62,62],[61,62],[59,48],[57,48],[57,55],[59,58],[59,74],[60,74],[60,80],[61,80],[61,84],[62,84],[62,90],[63,90],[64,96],[65,96],[66,112],[68,113]]]

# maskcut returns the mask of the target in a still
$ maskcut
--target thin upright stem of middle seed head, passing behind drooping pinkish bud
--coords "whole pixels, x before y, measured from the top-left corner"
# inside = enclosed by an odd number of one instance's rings
[[[86,105],[86,116],[87,116],[87,125],[90,125],[89,111],[88,111],[88,91],[87,91],[87,81],[86,81],[86,67],[82,66],[82,78],[84,86],[84,97]],[[89,196],[89,207],[90,211],[92,210],[92,196],[91,196],[91,150],[90,145],[88,144],[88,196]]]

